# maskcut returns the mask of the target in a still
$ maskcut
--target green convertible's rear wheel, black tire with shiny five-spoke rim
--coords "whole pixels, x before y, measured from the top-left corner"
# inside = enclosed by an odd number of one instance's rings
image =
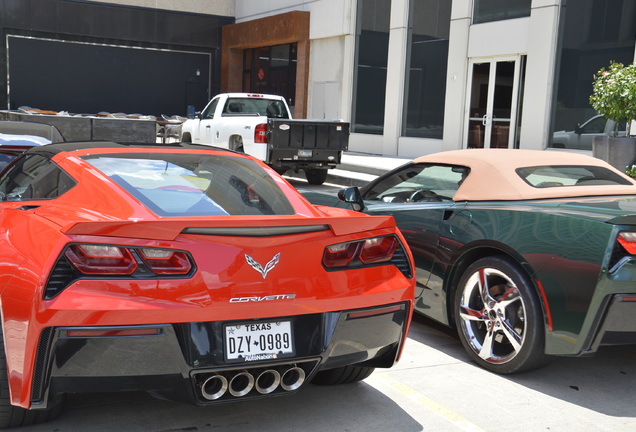
[[[541,304],[528,275],[512,260],[488,257],[469,266],[453,307],[459,338],[484,369],[512,374],[547,362]]]

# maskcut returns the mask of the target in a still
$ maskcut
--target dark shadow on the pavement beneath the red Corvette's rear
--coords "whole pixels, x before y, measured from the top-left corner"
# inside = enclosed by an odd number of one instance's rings
[[[421,431],[394,401],[364,382],[306,385],[293,395],[196,407],[154,399],[146,393],[68,395],[59,419],[21,428],[35,431]]]

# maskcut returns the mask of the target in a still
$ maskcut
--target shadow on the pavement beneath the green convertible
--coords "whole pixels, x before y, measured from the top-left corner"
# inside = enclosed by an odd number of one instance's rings
[[[471,373],[491,373],[472,362],[454,329],[429,318],[416,314],[409,338],[471,365]],[[634,358],[634,345],[607,346],[590,357],[550,357],[540,369],[500,377],[601,414],[634,418]]]

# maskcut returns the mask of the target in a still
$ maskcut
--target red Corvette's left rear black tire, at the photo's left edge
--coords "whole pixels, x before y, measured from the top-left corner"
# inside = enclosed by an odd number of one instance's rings
[[[44,423],[59,417],[61,412],[61,399],[45,410],[27,410],[11,405],[4,337],[0,330],[0,429]]]

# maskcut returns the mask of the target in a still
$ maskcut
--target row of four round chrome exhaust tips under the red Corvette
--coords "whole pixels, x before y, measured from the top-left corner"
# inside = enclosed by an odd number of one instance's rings
[[[279,388],[286,392],[294,391],[302,386],[305,377],[305,371],[298,366],[264,369],[258,374],[247,370],[218,372],[202,377],[199,389],[204,399],[215,401],[226,393],[240,398],[254,389],[261,395],[273,393]]]

